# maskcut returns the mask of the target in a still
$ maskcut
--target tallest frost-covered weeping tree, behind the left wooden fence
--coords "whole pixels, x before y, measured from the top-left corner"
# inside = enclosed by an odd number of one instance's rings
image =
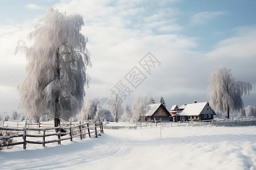
[[[34,44],[26,48],[19,41],[16,52],[25,49],[28,62],[27,77],[18,86],[19,107],[26,109],[32,120],[47,112],[58,126],[60,118],[68,121],[80,112],[89,80],[86,66],[90,65],[82,25],[81,15],[50,8],[28,34]]]

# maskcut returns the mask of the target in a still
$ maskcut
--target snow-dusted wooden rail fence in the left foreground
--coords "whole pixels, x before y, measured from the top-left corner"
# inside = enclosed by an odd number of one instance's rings
[[[50,124],[48,124],[50,125]],[[52,125],[52,124],[51,124]],[[39,124],[40,127],[40,124]],[[46,143],[57,142],[61,145],[61,141],[69,140],[73,141],[73,138],[80,137],[80,139],[85,138],[88,135],[90,138],[98,137],[99,133],[104,133],[102,122],[89,123],[73,125],[70,123],[66,127],[49,127],[49,128],[10,128],[10,127],[0,127],[0,130],[11,131],[13,134],[9,136],[0,136],[1,139],[19,138],[18,142],[0,144],[0,147],[9,147],[14,145],[23,145],[23,149],[26,149],[27,143],[40,144],[43,147]],[[55,132],[57,131],[57,132]],[[20,133],[22,132],[22,133]],[[43,134],[40,134],[43,132]],[[68,135],[68,137],[67,137]],[[47,141],[46,137],[57,136],[57,139]],[[22,137],[22,139],[20,139]],[[30,138],[30,139],[28,139]],[[42,141],[32,140],[32,138],[42,138]]]

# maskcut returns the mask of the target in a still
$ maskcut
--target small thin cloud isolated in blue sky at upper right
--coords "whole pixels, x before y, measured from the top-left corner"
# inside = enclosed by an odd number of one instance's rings
[[[192,25],[202,25],[210,20],[217,18],[218,16],[226,14],[226,11],[214,11],[214,12],[209,12],[209,11],[204,11],[204,12],[199,12],[193,16],[191,16],[191,24]]]

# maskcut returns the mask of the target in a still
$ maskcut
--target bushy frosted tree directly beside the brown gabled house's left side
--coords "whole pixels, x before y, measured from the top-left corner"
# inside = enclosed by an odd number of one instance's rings
[[[133,121],[144,122],[147,113],[147,99],[143,96],[135,96],[133,104],[131,105],[133,111]]]

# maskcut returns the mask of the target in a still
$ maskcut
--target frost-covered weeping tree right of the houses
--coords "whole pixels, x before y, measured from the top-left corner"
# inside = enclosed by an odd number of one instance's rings
[[[215,111],[226,112],[229,118],[230,111],[240,111],[243,108],[242,95],[249,95],[251,84],[236,80],[231,74],[231,69],[225,66],[213,69],[208,81],[210,107]]]

